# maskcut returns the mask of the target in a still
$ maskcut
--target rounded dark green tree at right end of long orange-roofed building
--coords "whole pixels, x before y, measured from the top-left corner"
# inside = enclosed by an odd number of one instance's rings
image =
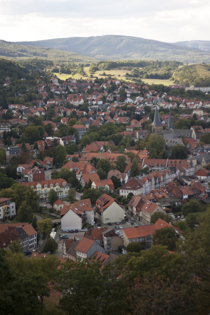
[[[167,246],[167,250],[174,251],[176,249],[176,242],[180,238],[173,227],[163,227],[162,229],[155,230],[152,236],[154,245]]]

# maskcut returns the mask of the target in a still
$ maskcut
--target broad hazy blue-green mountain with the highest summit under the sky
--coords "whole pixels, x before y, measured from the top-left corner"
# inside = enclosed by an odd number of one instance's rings
[[[48,47],[98,60],[176,60],[188,63],[210,62],[210,54],[200,49],[155,40],[120,35],[56,38],[19,45]]]

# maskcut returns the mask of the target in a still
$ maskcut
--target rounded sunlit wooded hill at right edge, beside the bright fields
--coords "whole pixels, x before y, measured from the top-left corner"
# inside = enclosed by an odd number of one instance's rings
[[[210,65],[188,65],[176,69],[173,73],[175,82],[186,82],[196,87],[210,86]]]

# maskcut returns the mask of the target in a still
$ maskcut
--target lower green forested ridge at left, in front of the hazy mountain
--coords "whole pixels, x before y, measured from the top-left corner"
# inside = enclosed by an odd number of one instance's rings
[[[54,61],[65,61],[65,62],[75,62],[75,63],[90,63],[95,60],[81,56],[76,53],[71,53],[68,51],[60,51],[58,49],[34,47],[34,46],[24,46],[11,42],[6,42],[0,40],[0,56],[3,56],[11,60],[23,60],[23,59],[48,59]]]

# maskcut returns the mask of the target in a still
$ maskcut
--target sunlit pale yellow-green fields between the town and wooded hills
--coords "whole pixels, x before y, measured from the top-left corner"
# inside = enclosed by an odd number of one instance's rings
[[[84,67],[84,72],[88,75],[88,77],[90,77],[90,73],[89,73],[89,67]],[[118,69],[118,68],[112,68],[111,70],[97,70],[95,71],[95,73],[93,74],[94,77],[98,77],[98,78],[106,78],[106,76],[103,76],[103,73],[106,74],[111,74],[112,76],[125,80],[125,74],[128,72],[130,73],[129,70],[124,70],[122,68]],[[69,77],[72,77],[74,79],[80,79],[82,77],[82,79],[87,79],[88,77],[83,77],[81,76],[81,74],[65,74],[65,73],[53,73],[54,75],[56,75],[58,78],[60,78],[61,80],[65,80],[68,79]],[[101,75],[100,75],[101,74]],[[173,83],[173,81],[171,80],[160,80],[160,79],[141,79],[142,82],[144,82],[145,84],[164,84],[166,86],[170,85]],[[126,80],[128,81],[128,80]],[[132,80],[130,79],[129,81],[132,82]]]

